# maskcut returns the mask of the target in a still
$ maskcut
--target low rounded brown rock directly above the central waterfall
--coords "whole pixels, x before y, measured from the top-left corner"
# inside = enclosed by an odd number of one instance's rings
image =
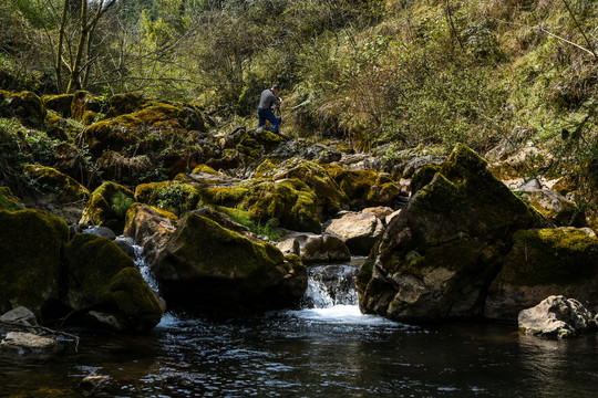
[[[341,239],[329,234],[295,234],[276,247],[285,255],[299,255],[303,262],[333,262],[351,259],[347,244]]]

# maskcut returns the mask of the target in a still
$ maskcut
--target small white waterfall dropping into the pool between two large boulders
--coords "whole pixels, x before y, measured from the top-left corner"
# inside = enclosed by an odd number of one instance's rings
[[[358,272],[358,268],[350,265],[319,265],[308,269],[308,287],[302,306],[330,308],[334,305],[357,305]]]

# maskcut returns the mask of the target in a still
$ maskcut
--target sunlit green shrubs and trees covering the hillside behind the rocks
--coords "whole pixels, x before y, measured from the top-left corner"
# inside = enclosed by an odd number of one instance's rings
[[[136,91],[197,103],[231,129],[256,124],[259,92],[277,82],[288,133],[299,136],[348,138],[358,149],[392,143],[392,158],[420,144],[485,151],[515,126],[559,153],[567,129],[586,146],[568,145],[564,156],[594,158],[591,0],[11,0],[0,8],[4,90]]]

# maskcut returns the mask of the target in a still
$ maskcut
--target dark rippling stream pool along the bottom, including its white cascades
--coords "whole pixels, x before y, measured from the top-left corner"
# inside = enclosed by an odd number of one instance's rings
[[[137,265],[150,277],[141,255]],[[362,315],[354,265],[311,268],[297,311],[167,313],[142,336],[79,331],[79,354],[0,352],[0,397],[81,397],[90,375],[110,383],[94,397],[596,396],[596,335],[545,341],[513,325],[422,327]]]

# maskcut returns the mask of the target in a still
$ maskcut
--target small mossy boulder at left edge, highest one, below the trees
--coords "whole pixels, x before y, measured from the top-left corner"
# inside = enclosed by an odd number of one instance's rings
[[[17,117],[28,127],[43,127],[47,114],[41,98],[31,92],[6,93],[0,103],[0,116]]]

